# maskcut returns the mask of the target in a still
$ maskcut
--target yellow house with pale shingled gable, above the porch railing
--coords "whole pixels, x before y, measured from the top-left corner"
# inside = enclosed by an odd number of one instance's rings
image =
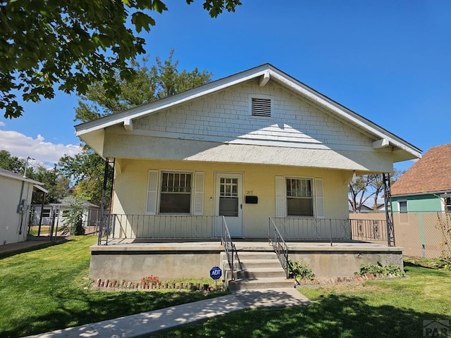
[[[266,237],[270,217],[348,219],[354,173],[421,157],[270,64],[75,129],[115,160],[111,213],[224,215],[240,238]]]

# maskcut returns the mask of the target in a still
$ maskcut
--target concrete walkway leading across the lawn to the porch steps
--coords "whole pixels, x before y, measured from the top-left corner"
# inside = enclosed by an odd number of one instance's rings
[[[180,325],[208,320],[246,308],[309,305],[311,302],[296,289],[241,290],[213,299],[195,301],[161,310],[128,315],[99,323],[69,327],[27,338],[132,338],[171,330]]]

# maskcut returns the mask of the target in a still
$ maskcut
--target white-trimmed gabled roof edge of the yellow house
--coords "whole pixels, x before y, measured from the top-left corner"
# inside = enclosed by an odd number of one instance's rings
[[[294,77],[283,73],[273,65],[266,63],[259,65],[255,68],[245,70],[235,75],[224,77],[214,82],[209,82],[194,89],[187,90],[173,96],[168,96],[164,99],[137,106],[135,108],[114,113],[104,116],[97,120],[92,120],[87,123],[82,123],[75,126],[75,134],[89,144],[90,136],[95,134],[101,134],[106,127],[113,125],[124,125],[125,129],[131,128],[132,120],[141,118],[144,115],[149,115],[162,111],[163,109],[173,108],[180,104],[186,104],[187,102],[199,99],[203,96],[219,92],[223,89],[233,87],[237,84],[242,84],[249,80],[259,79],[260,84],[263,86],[269,80],[278,82],[283,87],[289,89],[295,94],[302,97],[302,99],[309,101],[311,104],[322,108],[324,111],[333,115],[342,123],[346,123],[354,127],[359,132],[367,134],[374,139],[375,148],[391,146],[393,149],[393,161],[405,161],[413,158],[421,157],[421,150],[404,141],[395,134],[388,132],[383,127],[372,123],[362,115],[351,111],[350,109],[338,104],[337,102],[329,99],[327,96],[316,92],[316,90],[307,86],[306,84],[299,82]]]

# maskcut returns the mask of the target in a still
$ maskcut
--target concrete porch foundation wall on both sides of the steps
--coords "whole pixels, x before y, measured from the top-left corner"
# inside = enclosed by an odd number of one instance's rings
[[[221,267],[220,245],[211,244],[191,249],[168,246],[92,246],[89,277],[92,280],[126,280],[139,282],[142,277],[154,275],[160,280],[209,277],[211,268]],[[261,251],[261,250],[259,250]],[[272,251],[267,249],[265,251]],[[353,276],[362,264],[398,265],[403,268],[402,249],[388,246],[360,246],[356,248],[290,249],[291,261],[302,260],[314,274],[322,276]]]

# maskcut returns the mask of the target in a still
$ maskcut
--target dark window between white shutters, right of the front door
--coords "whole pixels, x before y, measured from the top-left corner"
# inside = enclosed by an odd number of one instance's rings
[[[311,180],[287,178],[287,215],[313,216]]]

